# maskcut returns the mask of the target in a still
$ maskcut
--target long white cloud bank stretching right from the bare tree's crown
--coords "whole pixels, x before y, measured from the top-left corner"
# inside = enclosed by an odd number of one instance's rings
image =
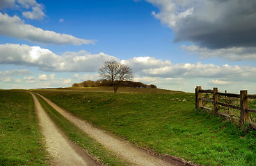
[[[143,59],[141,61],[140,59]],[[148,63],[147,63],[148,62]],[[230,80],[251,79],[256,76],[256,68],[251,66],[217,66],[214,64],[202,64],[200,62],[191,64],[172,64],[170,61],[154,59],[153,57],[134,57],[134,59],[123,60],[122,63],[136,68],[134,73],[148,77],[168,78],[228,78]],[[150,64],[150,65],[148,65]],[[253,79],[255,80],[255,79]]]

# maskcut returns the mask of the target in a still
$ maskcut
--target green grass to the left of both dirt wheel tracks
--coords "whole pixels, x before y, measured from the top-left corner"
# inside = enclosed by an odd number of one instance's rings
[[[49,165],[33,98],[0,90],[0,165]]]

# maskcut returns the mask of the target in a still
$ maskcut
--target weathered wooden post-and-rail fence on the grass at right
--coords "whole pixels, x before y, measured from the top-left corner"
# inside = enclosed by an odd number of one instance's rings
[[[211,94],[213,94],[213,98],[212,99],[202,98],[202,93],[211,93]],[[232,105],[232,104],[227,104],[227,103],[224,103],[224,102],[219,102],[218,101],[218,95],[232,97],[232,98],[240,98],[240,107],[238,107],[236,105]],[[256,109],[250,109],[249,108],[248,99],[256,99],[256,95],[248,95],[247,91],[240,91],[240,94],[233,94],[233,93],[218,92],[218,88],[214,88],[213,90],[211,90],[211,89],[202,90],[201,86],[197,86],[195,88],[195,108],[197,108],[197,109],[199,109],[199,108],[207,109],[207,110],[213,111],[215,115],[220,115],[220,116],[223,116],[227,119],[238,120],[240,127],[244,123],[248,122],[251,127],[256,129],[256,124],[251,122],[251,120],[250,120],[250,112],[256,113]],[[202,106],[202,101],[212,102],[214,104],[214,109],[212,110],[212,109],[209,109],[207,107],[203,107]],[[229,107],[229,108],[232,108],[232,109],[240,110],[240,118],[231,117],[226,113],[218,112],[219,105],[221,105],[223,107]]]

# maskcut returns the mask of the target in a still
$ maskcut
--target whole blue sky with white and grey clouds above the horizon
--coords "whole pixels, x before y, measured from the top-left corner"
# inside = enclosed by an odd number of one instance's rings
[[[0,89],[99,80],[108,60],[160,89],[256,93],[255,0],[0,0]]]

